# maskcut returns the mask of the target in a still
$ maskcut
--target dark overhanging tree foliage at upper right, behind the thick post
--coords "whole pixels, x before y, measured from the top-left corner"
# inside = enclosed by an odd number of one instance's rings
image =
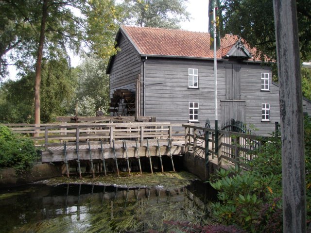
[[[276,38],[271,0],[223,0],[225,33],[244,38],[261,54],[276,60]],[[301,59],[311,54],[311,0],[297,0],[297,18]]]

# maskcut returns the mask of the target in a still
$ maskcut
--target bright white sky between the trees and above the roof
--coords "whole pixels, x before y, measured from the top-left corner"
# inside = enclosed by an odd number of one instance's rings
[[[187,10],[190,13],[190,21],[180,23],[183,30],[192,32],[208,31],[208,0],[188,0]],[[78,57],[71,59],[71,66],[76,67],[81,60]],[[15,80],[17,71],[15,67],[9,66],[10,79]]]

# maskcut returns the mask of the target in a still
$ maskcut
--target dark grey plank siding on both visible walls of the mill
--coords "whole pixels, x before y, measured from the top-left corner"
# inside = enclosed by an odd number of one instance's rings
[[[144,65],[140,55],[121,34],[118,41],[121,51],[115,56],[110,70],[110,95],[118,88],[135,91],[135,79],[141,75],[144,80]],[[189,102],[199,102],[200,126],[210,120],[214,127],[214,66],[212,60],[148,57],[146,72],[146,115],[156,116],[157,121],[187,123],[189,121]],[[219,61],[217,64],[218,119],[222,116],[227,100],[241,101],[234,116],[245,118],[247,125],[254,125],[258,134],[267,135],[280,121],[278,86],[272,82],[269,67],[260,64]],[[188,69],[199,71],[199,88],[188,87]],[[261,72],[269,73],[269,91],[261,91]],[[227,83],[227,85],[226,85]],[[141,82],[141,115],[144,112],[144,83]],[[223,105],[221,105],[221,103]],[[261,104],[270,104],[270,121],[261,121]],[[311,114],[311,101],[303,100],[304,112]],[[243,105],[243,106],[242,106]],[[239,112],[242,109],[244,112]],[[239,112],[239,113],[238,113]],[[225,113],[224,113],[225,114]],[[229,116],[229,115],[228,115]]]

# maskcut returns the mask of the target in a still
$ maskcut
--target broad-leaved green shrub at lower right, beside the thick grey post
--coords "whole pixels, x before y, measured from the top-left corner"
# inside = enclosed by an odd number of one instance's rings
[[[267,219],[265,216],[259,222],[260,210],[264,203],[274,201],[272,190],[276,180],[272,175],[262,177],[254,171],[241,172],[236,168],[226,172],[220,170],[220,178],[211,183],[219,191],[219,202],[212,204],[213,215],[225,225],[236,224],[247,232],[260,232],[264,227],[262,222]]]

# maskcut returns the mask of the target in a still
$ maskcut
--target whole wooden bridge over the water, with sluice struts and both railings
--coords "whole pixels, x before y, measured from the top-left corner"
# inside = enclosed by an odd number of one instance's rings
[[[95,172],[106,174],[107,160],[114,161],[113,170],[119,174],[119,165],[126,161],[131,174],[131,161],[148,161],[153,172],[152,157],[158,157],[163,172],[162,156],[169,156],[174,170],[173,156],[184,156],[185,166],[201,178],[212,169],[227,166],[249,168],[247,161],[256,156],[256,150],[267,137],[250,133],[215,130],[194,124],[167,122],[69,123],[69,124],[6,124],[14,132],[31,136],[41,146],[43,163],[62,163],[63,173],[69,176],[70,166],[76,167],[81,177],[81,163]],[[175,129],[182,129],[183,132]],[[38,135],[38,136],[34,136]],[[119,161],[119,162],[118,162]],[[168,161],[168,160],[166,160]],[[198,161],[201,161],[198,164]],[[200,173],[200,174],[198,174]],[[205,175],[202,175],[205,173]]]

